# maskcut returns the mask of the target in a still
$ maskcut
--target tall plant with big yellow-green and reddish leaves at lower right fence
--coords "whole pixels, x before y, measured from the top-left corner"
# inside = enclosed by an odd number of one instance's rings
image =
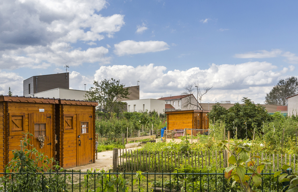
[[[226,146],[227,144],[236,145],[237,151],[230,151]],[[232,187],[237,182],[246,192],[250,192],[253,191],[253,187],[257,188],[259,185],[261,185],[262,175],[260,173],[262,172],[265,164],[271,164],[270,161],[263,159],[260,160],[260,164],[257,165],[253,158],[261,159],[261,157],[255,155],[249,158],[247,153],[251,151],[251,148],[249,145],[243,145],[242,143],[235,144],[223,140],[221,143],[219,143],[219,147],[226,147],[231,153],[231,156],[228,159],[228,162],[231,164],[231,166],[225,169],[225,178],[227,178],[228,181],[230,181],[232,178],[234,179]],[[245,174],[246,163],[248,167],[247,170],[252,173],[251,176]]]

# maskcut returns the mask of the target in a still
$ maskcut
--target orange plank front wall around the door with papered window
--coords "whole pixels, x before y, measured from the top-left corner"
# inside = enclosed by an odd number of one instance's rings
[[[61,158],[62,159],[62,166],[63,168],[71,168],[71,167],[75,167],[77,166],[77,129],[78,129],[78,125],[77,125],[77,118],[78,118],[78,114],[93,114],[93,106],[82,106],[82,105],[62,105],[62,110],[61,112],[63,114],[74,114],[74,132],[68,132],[68,133],[61,133],[61,135],[63,135],[63,138],[61,137],[61,148],[62,150],[60,150],[61,152]],[[63,116],[62,116],[63,118]],[[93,118],[94,118],[94,114],[93,114]],[[61,122],[64,122],[61,120]],[[93,122],[90,122],[90,124],[93,124]],[[64,129],[64,123],[62,123],[62,129]],[[89,132],[90,131],[95,131],[95,129],[90,129],[89,128]],[[92,133],[93,135],[93,133]],[[95,140],[92,140],[95,141]],[[92,142],[94,143],[94,142]],[[94,155],[94,150],[93,150],[94,146],[90,146],[89,150],[92,150],[91,154]],[[94,158],[92,158],[94,159]]]

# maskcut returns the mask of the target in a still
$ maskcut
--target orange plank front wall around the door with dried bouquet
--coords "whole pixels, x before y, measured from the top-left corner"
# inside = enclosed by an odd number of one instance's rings
[[[6,111],[7,120],[8,120],[9,113],[20,113],[20,112],[25,113],[25,130],[24,130],[25,133],[29,131],[29,114],[40,113],[39,109],[44,109],[45,114],[49,113],[52,117],[55,116],[53,104],[49,104],[49,103],[21,103],[21,102],[7,102],[7,103],[8,103],[8,108],[7,108],[8,111]],[[55,118],[51,118],[51,127],[49,129],[50,129],[52,144],[55,143],[55,137],[53,137],[53,135],[55,135],[54,125],[55,125]],[[7,123],[6,128],[8,128],[8,123]],[[9,131],[7,131],[7,132],[9,132]],[[24,137],[25,136],[23,134],[8,136],[7,163],[13,158],[12,150],[14,150],[14,149],[20,150],[20,140],[22,140]],[[51,154],[53,154],[52,157],[54,157],[55,145],[51,145],[51,151],[52,151]]]

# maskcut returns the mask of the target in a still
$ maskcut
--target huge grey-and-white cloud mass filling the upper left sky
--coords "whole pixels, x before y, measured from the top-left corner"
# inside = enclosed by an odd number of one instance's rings
[[[108,50],[104,47],[81,50],[70,46],[77,41],[96,46],[93,41],[113,37],[120,30],[125,24],[124,15],[98,14],[106,4],[105,0],[3,0],[0,68],[109,63],[111,58],[105,56]]]

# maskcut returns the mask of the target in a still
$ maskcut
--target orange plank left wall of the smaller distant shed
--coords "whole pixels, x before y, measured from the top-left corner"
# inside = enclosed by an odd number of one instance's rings
[[[168,114],[168,129],[192,129],[193,113],[169,113]]]

